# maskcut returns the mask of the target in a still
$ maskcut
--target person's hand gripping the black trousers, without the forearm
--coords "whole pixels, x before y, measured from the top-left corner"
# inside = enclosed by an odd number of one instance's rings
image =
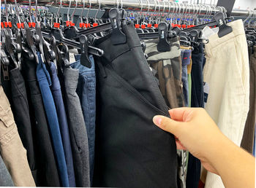
[[[217,173],[211,162],[219,147],[219,141],[226,139],[214,120],[202,108],[178,108],[169,111],[170,118],[155,116],[156,124],[162,130],[176,136],[177,149],[187,149],[197,157],[206,170]],[[218,173],[217,173],[218,174]]]

